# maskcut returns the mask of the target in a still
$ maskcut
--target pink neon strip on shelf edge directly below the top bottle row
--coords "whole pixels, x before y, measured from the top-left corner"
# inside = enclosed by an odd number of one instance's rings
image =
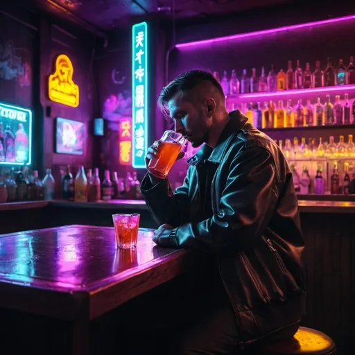
[[[262,97],[279,97],[279,96],[302,96],[304,94],[315,94],[322,92],[345,92],[354,91],[355,85],[338,85],[338,86],[327,86],[327,87],[317,87],[315,89],[301,89],[301,90],[283,90],[279,92],[256,92],[255,94],[241,94],[235,95],[236,99],[242,100],[243,98],[262,98]],[[231,98],[233,96],[230,96]]]

